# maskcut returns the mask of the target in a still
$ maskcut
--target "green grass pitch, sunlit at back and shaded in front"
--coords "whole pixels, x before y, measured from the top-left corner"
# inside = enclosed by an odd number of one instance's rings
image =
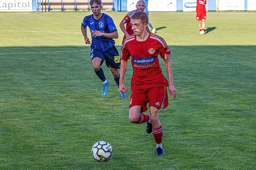
[[[126,14],[106,13],[116,26]],[[162,157],[146,124],[129,122],[105,64],[101,95],[80,33],[89,14],[0,13],[0,169],[256,169],[256,13],[209,12],[204,36],[195,13],[149,14],[172,50],[177,89],[160,110]],[[107,163],[91,155],[100,140],[113,147]]]

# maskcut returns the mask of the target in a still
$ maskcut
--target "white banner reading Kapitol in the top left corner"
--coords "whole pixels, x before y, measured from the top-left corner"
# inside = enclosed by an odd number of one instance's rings
[[[32,11],[32,0],[0,0],[0,12]]]

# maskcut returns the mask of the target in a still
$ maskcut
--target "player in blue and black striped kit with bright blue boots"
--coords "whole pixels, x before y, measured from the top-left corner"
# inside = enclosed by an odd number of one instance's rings
[[[101,13],[102,6],[100,0],[90,0],[90,5],[93,14],[84,17],[81,31],[84,35],[85,44],[91,44],[86,32],[86,27],[90,28],[92,35],[91,61],[95,73],[103,82],[102,95],[106,96],[108,93],[108,80],[100,66],[106,60],[106,65],[119,86],[120,74],[117,69],[120,68],[121,61],[115,41],[113,40],[118,38],[118,32],[113,19],[107,14]],[[123,95],[123,97],[120,95],[121,99],[126,98],[124,93]]]

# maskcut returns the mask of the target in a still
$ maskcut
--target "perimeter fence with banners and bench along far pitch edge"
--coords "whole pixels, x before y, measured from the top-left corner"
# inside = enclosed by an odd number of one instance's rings
[[[131,11],[138,0],[102,0],[103,10]],[[89,10],[89,0],[1,0],[0,11]],[[256,0],[208,0],[208,11],[256,11]],[[196,0],[148,0],[148,11],[196,11]]]

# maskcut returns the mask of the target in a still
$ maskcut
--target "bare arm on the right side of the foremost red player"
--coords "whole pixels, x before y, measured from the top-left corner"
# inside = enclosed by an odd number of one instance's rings
[[[165,68],[168,74],[169,79],[169,92],[172,95],[172,98],[175,99],[177,96],[176,89],[173,85],[173,79],[172,79],[172,62],[170,59],[164,59]]]

